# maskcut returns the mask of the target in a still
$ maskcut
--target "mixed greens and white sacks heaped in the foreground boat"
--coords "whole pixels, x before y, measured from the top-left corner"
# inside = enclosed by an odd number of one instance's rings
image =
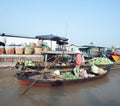
[[[54,71],[54,77],[59,76],[62,79],[85,79],[96,77],[96,75],[105,74],[107,70],[99,68],[96,65],[92,65],[90,70],[86,70],[85,68],[77,68],[75,67],[73,71],[68,72],[60,72],[59,70]],[[53,76],[53,75],[52,75]],[[57,77],[58,78],[58,77]]]

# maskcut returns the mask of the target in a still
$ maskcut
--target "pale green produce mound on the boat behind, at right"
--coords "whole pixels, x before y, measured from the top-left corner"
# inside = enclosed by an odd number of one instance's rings
[[[88,65],[109,65],[113,62],[105,57],[94,57],[88,61]]]

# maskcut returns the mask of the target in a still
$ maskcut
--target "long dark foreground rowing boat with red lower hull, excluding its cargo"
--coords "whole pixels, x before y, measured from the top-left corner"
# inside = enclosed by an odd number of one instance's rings
[[[87,78],[61,78],[60,76],[52,76],[50,78],[51,72],[20,72],[16,73],[16,77],[20,84],[23,85],[34,85],[34,86],[64,86],[64,85],[72,85],[77,83],[82,83],[86,81],[96,80],[106,76],[109,72],[110,68],[107,67],[105,69],[104,74],[95,74],[93,72],[87,71],[88,74],[92,74],[93,76],[88,76]],[[66,71],[60,71],[61,73],[65,73]],[[67,71],[72,74],[73,71]],[[42,77],[41,77],[42,76]],[[49,76],[49,77],[48,77]]]

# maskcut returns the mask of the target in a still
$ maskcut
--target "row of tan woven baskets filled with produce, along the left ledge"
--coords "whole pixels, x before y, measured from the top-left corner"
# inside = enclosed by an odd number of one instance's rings
[[[36,45],[35,43],[31,42],[29,45],[24,46],[0,46],[0,54],[41,54],[41,51],[50,51],[51,49],[44,44]]]

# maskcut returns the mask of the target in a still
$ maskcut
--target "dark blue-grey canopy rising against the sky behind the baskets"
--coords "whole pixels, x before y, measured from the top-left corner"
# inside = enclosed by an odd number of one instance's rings
[[[53,41],[68,41],[67,38],[64,37],[59,37],[56,35],[40,35],[40,36],[36,36],[37,39],[41,39],[41,40],[53,40]]]

